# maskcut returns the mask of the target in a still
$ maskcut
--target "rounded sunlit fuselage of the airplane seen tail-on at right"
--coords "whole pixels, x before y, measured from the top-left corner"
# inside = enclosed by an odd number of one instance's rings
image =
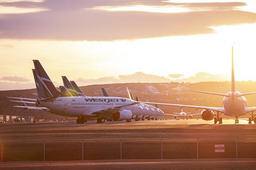
[[[227,116],[243,116],[246,115],[246,99],[244,96],[236,97],[240,92],[229,92],[229,97],[223,99],[224,115]]]

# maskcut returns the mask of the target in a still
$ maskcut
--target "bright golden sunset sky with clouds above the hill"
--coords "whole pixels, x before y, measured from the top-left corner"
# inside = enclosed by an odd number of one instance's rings
[[[33,59],[56,86],[256,80],[256,1],[0,0],[0,90],[35,88]]]

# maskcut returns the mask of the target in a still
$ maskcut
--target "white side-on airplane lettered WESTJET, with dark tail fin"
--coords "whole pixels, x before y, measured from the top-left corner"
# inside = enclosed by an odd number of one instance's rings
[[[94,119],[97,119],[97,123],[104,123],[106,119],[131,122],[131,119],[136,118],[136,113],[143,110],[142,107],[135,106],[138,102],[126,98],[63,95],[53,85],[41,63],[38,60],[33,61],[38,99],[22,99],[32,101],[37,107],[15,107],[46,110],[62,116],[78,117],[77,123]],[[32,102],[27,101],[27,103]],[[159,115],[163,115],[162,110],[158,109],[157,111]]]

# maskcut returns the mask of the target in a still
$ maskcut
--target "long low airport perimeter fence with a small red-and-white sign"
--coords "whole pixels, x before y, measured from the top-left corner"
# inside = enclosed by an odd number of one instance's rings
[[[1,161],[256,158],[256,140],[30,139],[2,140]]]

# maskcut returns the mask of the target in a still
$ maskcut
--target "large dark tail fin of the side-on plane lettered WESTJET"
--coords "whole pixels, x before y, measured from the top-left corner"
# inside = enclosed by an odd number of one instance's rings
[[[35,66],[35,73],[37,77],[37,82],[42,85],[43,94],[41,94],[41,90],[38,92],[39,98],[55,98],[60,96],[60,92],[52,83],[50,77],[45,72],[43,66],[38,60],[33,60]],[[36,80],[35,80],[36,82]]]

